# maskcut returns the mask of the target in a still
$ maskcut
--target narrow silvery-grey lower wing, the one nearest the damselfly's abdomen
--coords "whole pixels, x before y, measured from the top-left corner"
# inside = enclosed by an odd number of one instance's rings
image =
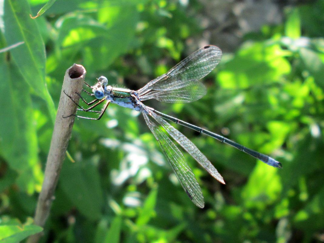
[[[167,131],[167,133],[175,140],[177,143],[186,150],[205,170],[208,171],[216,180],[225,184],[225,181],[213,164],[207,159],[207,157],[200,152],[196,145],[194,145],[185,135],[180,133],[177,129],[165,121],[161,116],[154,112],[150,115]]]

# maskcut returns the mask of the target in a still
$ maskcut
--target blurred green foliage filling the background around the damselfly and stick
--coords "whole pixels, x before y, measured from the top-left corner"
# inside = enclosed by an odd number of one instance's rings
[[[52,1],[51,1],[52,2]],[[204,1],[6,0],[0,21],[0,241],[39,232],[41,190],[65,70],[87,69],[139,89],[208,40]],[[77,119],[41,242],[322,242],[324,239],[324,1],[286,7],[284,21],[248,33],[190,104],[147,104],[271,155],[283,169],[175,127],[223,175],[185,154],[205,208],[182,190],[138,112],[110,105]],[[224,34],[223,30],[223,34]],[[220,33],[221,34],[221,33]],[[204,36],[204,37],[203,37]],[[26,222],[26,223],[21,223]]]

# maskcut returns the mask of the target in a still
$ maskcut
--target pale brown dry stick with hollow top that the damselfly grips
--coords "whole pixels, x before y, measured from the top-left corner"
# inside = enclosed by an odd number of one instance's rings
[[[41,227],[44,227],[48,215],[50,214],[52,201],[54,199],[54,191],[59,179],[75,119],[75,116],[70,116],[68,118],[63,117],[75,114],[77,108],[75,103],[73,103],[73,101],[67,97],[63,91],[78,102],[80,97],[76,93],[81,93],[85,75],[86,69],[82,65],[74,64],[66,70],[64,76],[51,147],[46,162],[44,181],[34,217],[34,224]],[[28,238],[27,243],[36,243],[41,236],[42,233],[32,235]]]

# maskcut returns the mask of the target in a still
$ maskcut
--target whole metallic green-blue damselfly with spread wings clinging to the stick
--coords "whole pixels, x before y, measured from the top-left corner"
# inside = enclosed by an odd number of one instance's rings
[[[233,147],[257,159],[260,159],[267,165],[281,168],[281,163],[269,156],[260,154],[259,152],[235,143],[221,135],[212,133],[201,127],[197,127],[185,121],[181,121],[177,118],[161,113],[144,105],[142,101],[147,99],[157,99],[166,103],[188,103],[202,98],[206,94],[206,88],[201,82],[199,82],[199,80],[209,74],[216,67],[216,65],[220,62],[221,57],[222,51],[218,47],[212,45],[205,46],[192,53],[179,64],[175,65],[166,74],[157,77],[137,91],[112,87],[108,85],[107,78],[101,76],[98,78],[98,82],[94,86],[90,86],[86,83],[86,85],[92,89],[93,94],[89,92],[87,93],[95,96],[96,99],[88,103],[80,96],[82,100],[90,107],[88,109],[84,109],[79,106],[80,109],[78,109],[96,112],[98,117],[90,118],[77,115],[75,116],[99,120],[110,103],[115,103],[123,107],[140,111],[144,116],[147,126],[160,145],[163,154],[173,168],[183,189],[186,191],[194,204],[203,208],[203,194],[194,174],[192,173],[191,168],[178,147],[171,141],[161,127],[215,179],[225,184],[224,179],[207,159],[207,157],[199,151],[196,145],[194,145],[177,129],[171,126],[165,119],[189,127],[199,133],[209,135],[228,145],[232,145]],[[92,110],[98,104],[104,101],[107,102],[102,110]],[[158,124],[161,125],[161,127],[159,127]]]

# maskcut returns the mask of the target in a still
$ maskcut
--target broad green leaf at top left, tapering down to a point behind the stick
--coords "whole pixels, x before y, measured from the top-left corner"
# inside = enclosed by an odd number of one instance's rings
[[[45,47],[35,20],[28,16],[26,0],[5,1],[5,38],[8,45],[24,41],[25,44],[10,51],[17,67],[29,86],[46,101],[52,121],[56,110],[45,83]]]

